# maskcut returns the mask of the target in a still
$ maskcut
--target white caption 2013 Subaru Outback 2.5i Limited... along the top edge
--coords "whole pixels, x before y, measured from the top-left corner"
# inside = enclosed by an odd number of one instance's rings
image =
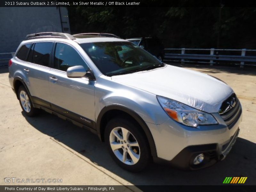
[[[115,2],[115,1],[105,1],[105,2],[75,2],[75,1],[68,1],[68,2],[59,2],[59,1],[51,1],[51,2],[5,2],[6,5],[62,5],[62,6],[69,6],[69,5],[140,5],[140,2]]]

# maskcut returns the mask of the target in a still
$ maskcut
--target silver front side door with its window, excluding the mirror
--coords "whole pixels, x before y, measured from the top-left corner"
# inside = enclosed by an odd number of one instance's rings
[[[69,78],[67,69],[82,65],[88,66],[80,53],[70,44],[55,43],[53,65],[49,76],[50,102],[52,109],[89,127],[93,126],[95,81],[86,77]]]

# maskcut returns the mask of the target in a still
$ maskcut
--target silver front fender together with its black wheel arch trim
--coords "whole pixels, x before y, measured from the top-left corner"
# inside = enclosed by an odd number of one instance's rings
[[[156,95],[111,80],[98,79],[95,84],[95,122],[98,136],[101,138],[101,119],[109,110],[120,110],[132,116],[146,134],[152,156],[157,156],[152,129],[169,117],[159,105]]]

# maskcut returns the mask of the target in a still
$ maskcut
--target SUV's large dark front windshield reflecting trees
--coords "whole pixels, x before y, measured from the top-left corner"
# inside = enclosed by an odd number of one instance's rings
[[[80,44],[101,73],[122,75],[163,67],[153,55],[130,42],[94,42]]]

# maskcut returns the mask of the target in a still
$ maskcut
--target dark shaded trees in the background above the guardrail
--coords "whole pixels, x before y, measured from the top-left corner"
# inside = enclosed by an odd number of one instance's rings
[[[220,48],[255,48],[255,7],[223,5],[220,20],[220,7],[185,7],[187,2],[180,1],[180,7],[70,7],[71,32],[157,36],[170,48],[216,48],[220,34]]]

